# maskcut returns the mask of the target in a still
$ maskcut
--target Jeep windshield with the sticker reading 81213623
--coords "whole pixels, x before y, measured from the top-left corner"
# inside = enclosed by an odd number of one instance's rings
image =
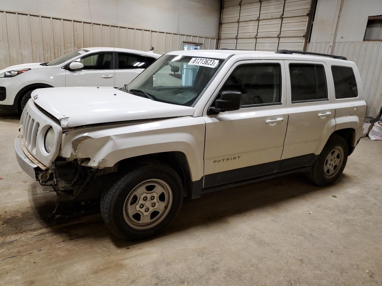
[[[223,59],[165,55],[139,74],[127,89],[139,96],[147,93],[153,100],[191,106],[222,62]]]

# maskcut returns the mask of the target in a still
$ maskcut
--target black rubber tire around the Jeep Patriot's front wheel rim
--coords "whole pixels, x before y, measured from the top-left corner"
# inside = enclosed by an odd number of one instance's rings
[[[140,183],[157,179],[170,186],[172,204],[163,220],[152,228],[138,230],[126,222],[124,218],[124,204],[129,193]],[[102,193],[100,201],[101,215],[108,229],[121,239],[129,241],[147,239],[165,231],[178,215],[183,202],[182,182],[167,164],[160,161],[143,161],[134,165],[124,174],[116,175],[116,179],[109,190]]]

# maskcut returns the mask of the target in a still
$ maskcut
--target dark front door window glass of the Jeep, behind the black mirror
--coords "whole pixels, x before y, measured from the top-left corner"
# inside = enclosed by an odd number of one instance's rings
[[[280,64],[243,64],[236,67],[223,85],[223,91],[243,94],[241,106],[281,102]]]

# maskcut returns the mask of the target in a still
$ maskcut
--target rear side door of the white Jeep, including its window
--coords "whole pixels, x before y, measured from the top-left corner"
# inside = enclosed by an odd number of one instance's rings
[[[278,171],[313,164],[335,130],[328,66],[323,62],[285,61],[285,71],[289,120]]]

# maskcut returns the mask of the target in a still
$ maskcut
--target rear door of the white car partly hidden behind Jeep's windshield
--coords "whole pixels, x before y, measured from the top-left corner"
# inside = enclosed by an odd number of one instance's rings
[[[129,84],[153,62],[149,57],[132,53],[116,52],[115,56],[115,87]]]

